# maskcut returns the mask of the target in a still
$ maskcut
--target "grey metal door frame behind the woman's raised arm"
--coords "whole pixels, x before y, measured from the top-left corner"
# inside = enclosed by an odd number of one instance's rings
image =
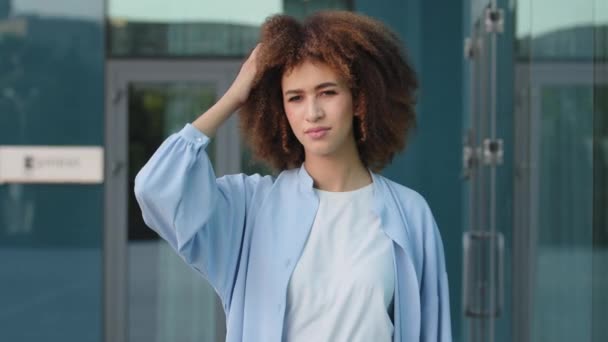
[[[108,60],[105,86],[104,313],[105,342],[128,342],[128,85],[132,82],[202,82],[214,84],[217,98],[226,92],[241,65],[235,60]],[[186,122],[184,122],[186,124]],[[240,171],[236,116],[224,123],[217,141],[218,176]],[[221,307],[221,305],[216,305]],[[217,329],[224,312],[216,312]],[[221,334],[220,334],[221,335]],[[223,336],[218,340],[223,341]]]

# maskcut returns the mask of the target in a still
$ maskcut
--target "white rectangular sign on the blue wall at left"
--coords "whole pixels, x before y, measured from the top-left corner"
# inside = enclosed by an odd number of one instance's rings
[[[102,182],[102,147],[0,146],[0,184]]]

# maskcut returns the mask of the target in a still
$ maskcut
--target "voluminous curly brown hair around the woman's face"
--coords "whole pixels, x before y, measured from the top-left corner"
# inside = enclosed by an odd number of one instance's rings
[[[360,158],[375,172],[405,147],[416,124],[416,74],[397,36],[372,18],[323,11],[303,22],[275,15],[262,25],[257,74],[240,109],[241,130],[255,157],[282,171],[304,162],[281,92],[283,73],[305,60],[327,64],[348,84]]]

